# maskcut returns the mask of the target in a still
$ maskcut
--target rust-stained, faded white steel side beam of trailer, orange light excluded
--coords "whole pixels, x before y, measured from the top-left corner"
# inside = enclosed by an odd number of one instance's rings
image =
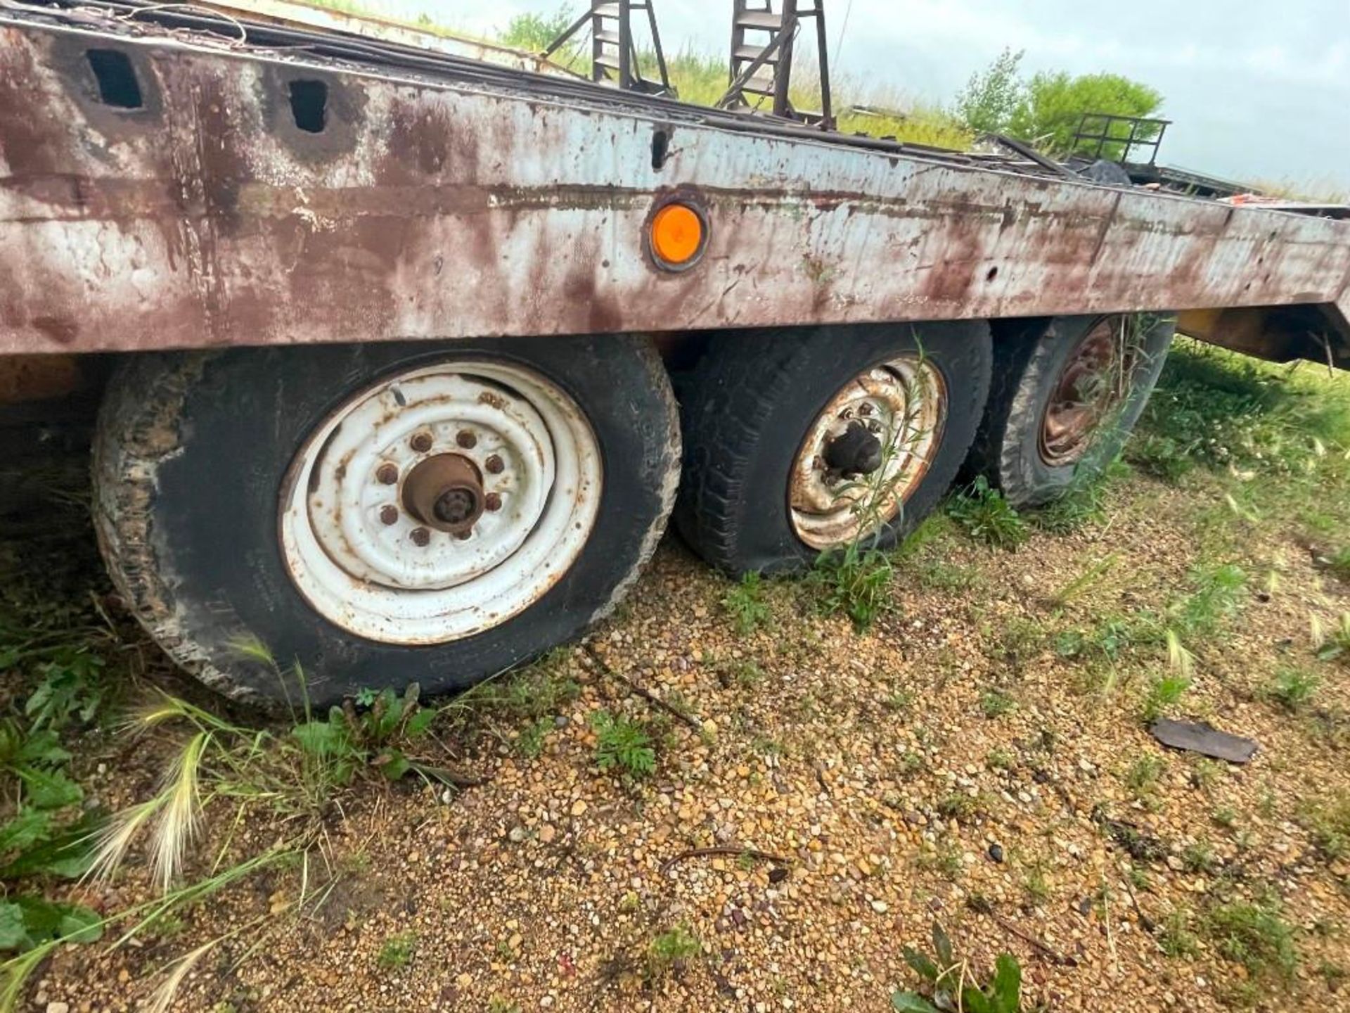
[[[1347,222],[16,18],[0,351],[1331,305],[1350,278]],[[142,108],[99,100],[90,47]],[[321,132],[294,81],[327,86]],[[672,193],[710,226],[678,274],[644,249]]]

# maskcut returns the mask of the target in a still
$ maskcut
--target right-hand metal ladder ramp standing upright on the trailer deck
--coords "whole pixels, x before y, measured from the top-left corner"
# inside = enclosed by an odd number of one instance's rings
[[[726,109],[757,109],[771,100],[770,112],[784,119],[821,124],[834,123],[830,109],[830,69],[825,45],[825,0],[810,9],[798,9],[796,0],[733,0],[730,85],[718,101]],[[795,109],[788,97],[792,80],[792,47],[802,19],[815,20],[815,49],[819,59],[821,111]]]

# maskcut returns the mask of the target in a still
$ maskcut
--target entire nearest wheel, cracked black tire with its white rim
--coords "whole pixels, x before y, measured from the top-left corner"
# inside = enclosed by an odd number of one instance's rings
[[[436,469],[456,461],[450,474],[478,485],[444,498]],[[184,669],[254,701],[296,697],[278,678],[294,669],[329,704],[463,689],[576,636],[649,559],[678,477],[674,396],[637,336],[146,354],[105,396],[94,521],[120,596]],[[375,498],[325,513],[332,484],[329,504]],[[414,489],[437,497],[429,515]],[[436,527],[451,523],[470,527]],[[397,586],[325,590],[327,554],[355,567],[347,548],[392,552]]]

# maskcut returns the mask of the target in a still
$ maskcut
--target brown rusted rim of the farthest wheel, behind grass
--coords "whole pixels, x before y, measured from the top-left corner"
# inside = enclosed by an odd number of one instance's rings
[[[1099,320],[1069,353],[1041,416],[1041,459],[1052,467],[1077,463],[1100,423],[1127,390],[1125,317]]]

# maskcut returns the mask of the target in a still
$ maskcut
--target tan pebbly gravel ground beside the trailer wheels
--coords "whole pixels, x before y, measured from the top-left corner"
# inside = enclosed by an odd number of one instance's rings
[[[321,905],[289,905],[300,870],[259,875],[138,944],[62,952],[35,1008],[146,1008],[167,962],[239,929],[174,1009],[879,1010],[918,985],[902,947],[926,948],[937,920],[980,974],[1014,954],[1029,1009],[1350,1009],[1335,990],[1350,967],[1350,867],[1299,819],[1350,785],[1350,669],[1308,660],[1310,616],[1350,606],[1343,586],[1285,532],[1222,528],[1241,543],[1249,594],[1191,644],[1195,686],[1172,713],[1256,737],[1245,767],[1153,743],[1139,708],[1158,651],[1094,669],[1054,650],[1064,629],[1181,593],[1212,551],[1199,508],[1216,489],[1131,478],[1104,520],[1017,552],[942,529],[899,566],[895,608],[861,635],[802,583],[770,583],[772,617],[741,635],[721,604],[732,585],[667,538],[621,615],[548,663],[579,692],[548,716],[537,756],[522,755],[520,725],[464,732],[450,747],[482,786],[451,797],[371,781],[343,800]],[[1300,712],[1261,692],[1289,660],[1323,673]],[[598,769],[599,708],[647,724],[655,774]],[[148,789],[155,748],[107,743],[105,797]],[[1150,758],[1161,767],[1145,778]],[[273,833],[256,812],[239,841]],[[690,854],[701,848],[722,852]],[[103,902],[138,895],[139,877]],[[1289,981],[1247,981],[1203,931],[1215,905],[1260,897],[1293,929]],[[693,952],[653,956],[676,927]]]

